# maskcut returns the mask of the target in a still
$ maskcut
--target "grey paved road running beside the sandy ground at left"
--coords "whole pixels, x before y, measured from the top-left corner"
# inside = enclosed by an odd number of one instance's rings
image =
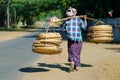
[[[38,32],[0,43],[0,80],[20,80],[24,72],[41,55],[32,52],[32,43]]]

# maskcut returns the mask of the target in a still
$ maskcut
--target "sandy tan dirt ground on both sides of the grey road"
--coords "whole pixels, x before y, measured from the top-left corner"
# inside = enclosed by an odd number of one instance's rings
[[[19,36],[11,35],[9,39],[13,37]],[[1,42],[4,39],[0,36]],[[61,54],[43,55],[42,58],[35,60],[33,65],[26,66],[22,71],[24,73],[22,80],[120,80],[120,44],[83,42],[82,67],[72,73],[67,72],[69,65],[66,45],[67,42],[63,41]]]

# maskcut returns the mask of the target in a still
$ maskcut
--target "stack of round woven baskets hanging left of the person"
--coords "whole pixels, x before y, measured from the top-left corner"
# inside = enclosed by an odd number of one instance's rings
[[[41,33],[33,43],[32,51],[39,54],[59,54],[62,52],[60,48],[61,35],[59,33]]]

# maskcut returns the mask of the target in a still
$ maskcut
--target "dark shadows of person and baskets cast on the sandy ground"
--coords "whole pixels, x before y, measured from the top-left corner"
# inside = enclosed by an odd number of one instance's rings
[[[48,72],[50,71],[50,68],[57,68],[62,71],[68,72],[69,71],[69,63],[64,63],[67,66],[62,66],[60,64],[47,64],[47,63],[38,63],[39,68],[37,67],[25,67],[25,68],[20,68],[19,71],[21,72],[27,72],[27,73],[33,73],[33,72]],[[81,67],[92,67],[92,65],[89,64],[81,64]]]

